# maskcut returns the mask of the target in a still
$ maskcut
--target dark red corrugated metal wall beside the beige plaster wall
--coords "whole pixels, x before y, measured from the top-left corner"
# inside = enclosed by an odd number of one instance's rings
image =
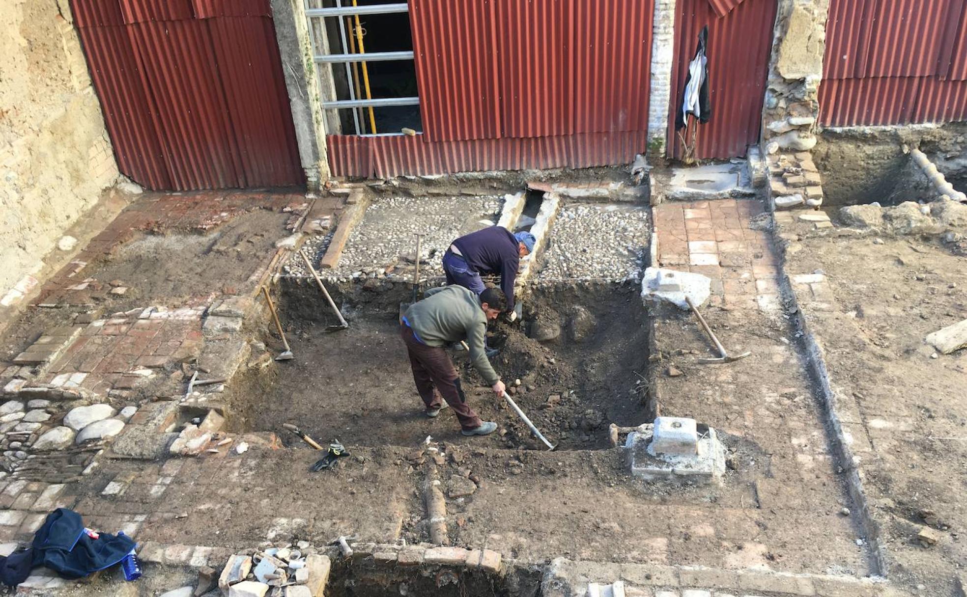
[[[305,182],[268,0],[72,7],[124,174],[171,190]]]

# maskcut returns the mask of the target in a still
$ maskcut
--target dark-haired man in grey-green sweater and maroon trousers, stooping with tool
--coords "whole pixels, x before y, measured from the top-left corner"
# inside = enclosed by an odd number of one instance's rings
[[[470,361],[480,372],[493,393],[504,395],[504,383],[490,366],[484,354],[487,320],[496,319],[507,309],[507,297],[496,288],[488,288],[479,296],[462,286],[444,286],[426,291],[425,299],[414,303],[399,324],[413,368],[413,381],[423,398],[426,416],[434,417],[443,408],[443,400],[454,410],[463,435],[485,436],[497,424],[482,421],[466,404],[460,377],[454,361],[444,347],[466,340]],[[439,394],[433,392],[436,388]]]

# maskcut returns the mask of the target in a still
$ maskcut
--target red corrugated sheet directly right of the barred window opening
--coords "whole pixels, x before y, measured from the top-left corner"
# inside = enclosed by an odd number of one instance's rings
[[[501,136],[494,0],[410,0],[417,87],[434,141]]]

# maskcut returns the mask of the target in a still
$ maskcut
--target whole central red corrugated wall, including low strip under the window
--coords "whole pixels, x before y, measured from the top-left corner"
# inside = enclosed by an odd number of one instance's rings
[[[654,0],[409,4],[424,134],[330,135],[337,176],[603,166],[645,150]]]

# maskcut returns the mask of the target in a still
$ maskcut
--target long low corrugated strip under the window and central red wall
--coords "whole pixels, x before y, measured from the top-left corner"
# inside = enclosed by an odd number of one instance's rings
[[[385,178],[623,164],[643,150],[647,137],[646,131],[627,131],[436,142],[425,135],[329,135],[327,141],[335,176]]]

